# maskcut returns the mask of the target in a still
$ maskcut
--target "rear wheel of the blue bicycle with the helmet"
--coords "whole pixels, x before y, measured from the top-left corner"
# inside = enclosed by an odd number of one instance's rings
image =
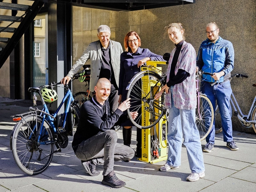
[[[12,131],[13,157],[19,168],[28,175],[44,172],[52,160],[54,150],[52,132],[47,122],[44,122],[42,131],[41,125],[41,116],[29,115],[17,122]]]

